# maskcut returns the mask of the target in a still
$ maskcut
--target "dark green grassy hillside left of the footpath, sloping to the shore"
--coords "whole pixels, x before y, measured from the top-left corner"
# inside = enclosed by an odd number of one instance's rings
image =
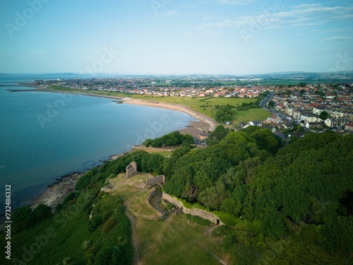
[[[104,263],[105,255],[131,264],[131,228],[124,206],[119,196],[99,192],[101,185],[99,181],[69,194],[55,215],[27,224],[28,214],[15,211],[12,259],[3,259],[1,264],[64,264],[64,259],[76,265],[110,264]]]

